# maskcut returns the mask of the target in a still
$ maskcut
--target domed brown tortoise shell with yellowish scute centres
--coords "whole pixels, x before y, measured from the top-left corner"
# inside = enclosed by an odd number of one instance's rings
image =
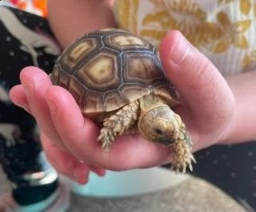
[[[162,96],[170,106],[178,103],[157,49],[121,29],[102,29],[78,38],[58,57],[50,78],[66,88],[90,118],[150,93]]]

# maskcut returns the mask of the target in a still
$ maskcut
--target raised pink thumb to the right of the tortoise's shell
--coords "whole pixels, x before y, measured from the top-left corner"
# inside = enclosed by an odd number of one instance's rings
[[[163,38],[160,57],[166,76],[182,96],[188,109],[185,111],[189,111],[185,120],[189,116],[190,127],[206,134],[213,128],[223,129],[234,114],[234,96],[218,69],[175,30]],[[220,121],[222,126],[218,127]]]

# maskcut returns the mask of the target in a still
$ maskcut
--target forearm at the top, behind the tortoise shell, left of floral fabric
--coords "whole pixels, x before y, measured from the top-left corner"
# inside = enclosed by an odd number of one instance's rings
[[[83,33],[114,26],[113,0],[49,0],[50,26],[66,48]]]

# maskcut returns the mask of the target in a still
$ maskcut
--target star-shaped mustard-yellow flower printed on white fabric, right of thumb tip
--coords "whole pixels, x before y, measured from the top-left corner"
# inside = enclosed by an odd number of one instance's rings
[[[223,12],[217,14],[217,20],[219,33],[222,36],[220,36],[214,46],[214,53],[223,53],[230,45],[234,45],[240,49],[248,48],[248,42],[244,33],[250,27],[250,20],[231,23],[228,16]]]

